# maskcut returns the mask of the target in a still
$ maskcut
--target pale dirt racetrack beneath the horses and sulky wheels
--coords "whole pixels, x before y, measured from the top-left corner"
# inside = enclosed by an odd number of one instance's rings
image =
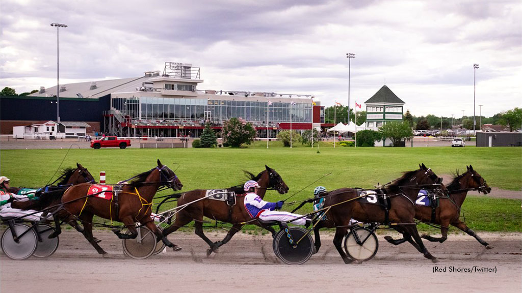
[[[212,240],[221,232],[207,231]],[[390,233],[394,237],[397,234]],[[344,264],[328,232],[319,253],[303,265],[282,264],[271,237],[239,233],[218,254],[206,257],[206,243],[194,234],[169,236],[183,250],[133,260],[121,240],[107,230],[94,231],[109,252],[103,258],[76,231],[60,235],[60,247],[48,259],[25,261],[0,256],[0,291],[9,292],[520,292],[520,234],[479,233],[494,248],[486,250],[467,235],[444,243],[427,242],[441,262],[433,264],[405,243],[392,246],[379,235],[374,259]],[[446,272],[434,272],[434,268]],[[487,267],[493,272],[462,272]],[[455,270],[459,272],[455,272]],[[454,272],[450,272],[450,271]]]

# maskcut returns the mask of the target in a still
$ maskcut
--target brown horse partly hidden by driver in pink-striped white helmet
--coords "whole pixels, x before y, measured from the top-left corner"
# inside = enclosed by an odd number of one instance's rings
[[[257,181],[259,184],[260,188],[257,195],[260,198],[265,196],[266,190],[269,188],[276,189],[280,194],[287,193],[289,190],[281,176],[279,176],[279,174],[274,169],[271,169],[266,165],[265,170],[263,170],[263,172],[259,173],[257,176],[254,176],[248,172],[245,173],[250,177],[251,180]],[[236,194],[243,194],[243,185],[229,188],[228,191],[234,191]],[[205,198],[206,194],[207,189],[196,189],[184,192],[180,194],[179,200],[177,201],[177,206],[191,203],[198,199],[203,199]],[[207,255],[210,255],[220,246],[230,241],[232,236],[241,230],[241,228],[244,226],[244,224],[241,223],[250,221],[252,219],[246,212],[243,201],[244,197],[236,197],[236,204],[233,206],[228,206],[224,201],[217,201],[207,198],[189,204],[176,214],[175,221],[170,227],[167,227],[163,230],[163,235],[167,236],[194,220],[195,233],[208,243],[210,248],[207,250]],[[223,240],[212,242],[203,233],[203,216],[211,218],[215,221],[232,223],[233,226]],[[272,235],[275,234],[275,230],[271,227],[265,227],[257,221],[253,222],[252,224],[269,230]]]

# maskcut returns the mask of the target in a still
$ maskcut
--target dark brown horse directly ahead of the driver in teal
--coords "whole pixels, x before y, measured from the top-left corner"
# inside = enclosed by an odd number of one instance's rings
[[[324,207],[330,209],[326,212],[326,220],[319,222],[314,227],[315,234],[315,250],[321,247],[321,239],[319,238],[319,229],[336,228],[334,236],[334,245],[342,260],[345,263],[352,263],[345,252],[342,251],[342,238],[348,233],[350,219],[354,218],[363,223],[382,223],[391,225],[392,228],[404,235],[404,241],[408,241],[424,257],[432,262],[438,262],[437,258],[428,252],[422,243],[422,239],[414,224],[415,206],[414,201],[420,189],[435,189],[440,186],[442,178],[437,177],[433,171],[426,168],[424,164],[419,165],[418,170],[406,172],[402,177],[390,182],[381,189],[372,190],[377,194],[385,194],[389,198],[389,213],[386,215],[385,209],[381,205],[369,204],[360,200],[351,200],[359,196],[360,189],[341,188],[328,192],[325,198]],[[364,190],[363,190],[364,191]],[[362,198],[364,199],[364,198]],[[376,199],[376,196],[374,196]],[[349,201],[350,200],[350,201]],[[375,200],[375,202],[377,202]],[[413,239],[412,239],[413,238]]]

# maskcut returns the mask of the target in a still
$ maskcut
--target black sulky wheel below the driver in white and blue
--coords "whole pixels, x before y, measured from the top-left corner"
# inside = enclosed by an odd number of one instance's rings
[[[288,234],[291,235],[293,243],[290,243],[284,229],[277,233],[274,242],[272,242],[274,253],[282,262],[287,264],[305,263],[310,259],[314,250],[312,236],[308,233],[308,230],[301,227],[289,227]]]

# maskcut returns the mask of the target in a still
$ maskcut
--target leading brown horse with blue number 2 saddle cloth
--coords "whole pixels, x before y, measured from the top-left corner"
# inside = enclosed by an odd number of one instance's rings
[[[480,242],[486,249],[493,248],[488,242],[482,240],[475,231],[471,230],[464,222],[460,220],[460,208],[469,190],[477,190],[484,194],[491,192],[491,188],[488,186],[484,178],[480,176],[473,166],[466,166],[467,171],[461,175],[457,174],[453,181],[446,186],[448,194],[446,196],[438,197],[438,207],[416,205],[415,218],[421,222],[431,223],[440,225],[442,237],[437,238],[423,234],[421,237],[432,241],[432,242],[444,242],[448,237],[449,225],[455,226],[460,230],[466,232],[468,235],[473,236],[477,241]],[[395,244],[400,239],[394,240],[389,236],[385,237],[390,243]]]

